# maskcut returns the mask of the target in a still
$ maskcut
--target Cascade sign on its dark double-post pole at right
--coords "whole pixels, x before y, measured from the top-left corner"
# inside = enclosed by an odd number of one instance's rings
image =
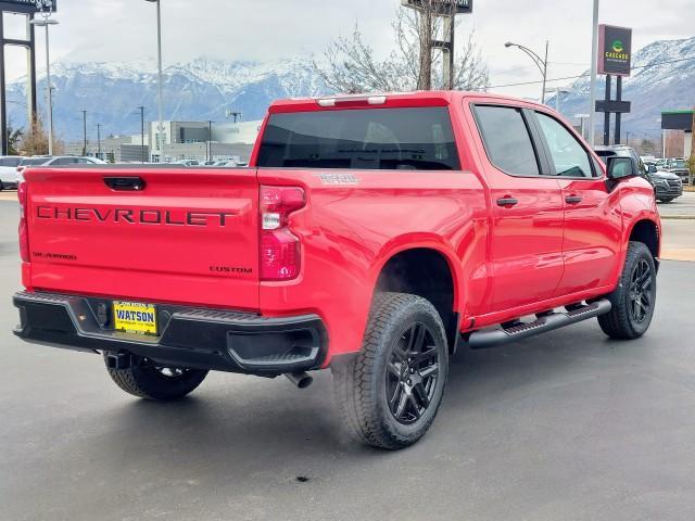
[[[606,98],[596,101],[596,112],[604,116],[604,144],[610,144],[610,114],[616,115],[614,142],[621,141],[621,115],[630,112],[629,101],[622,101],[622,78],[632,68],[632,29],[601,25],[598,27],[598,74],[606,75]],[[611,100],[611,79],[616,76],[616,99]]]

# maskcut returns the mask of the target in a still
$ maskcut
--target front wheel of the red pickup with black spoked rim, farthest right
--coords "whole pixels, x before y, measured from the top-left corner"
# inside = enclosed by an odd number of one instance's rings
[[[634,340],[649,329],[656,304],[656,266],[642,242],[630,242],[618,288],[610,293],[610,313],[598,317],[611,339]]]

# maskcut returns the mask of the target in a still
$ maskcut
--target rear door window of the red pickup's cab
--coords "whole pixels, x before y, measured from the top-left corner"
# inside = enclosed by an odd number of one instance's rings
[[[493,165],[511,175],[540,174],[531,136],[519,109],[477,105],[475,114],[488,157]]]

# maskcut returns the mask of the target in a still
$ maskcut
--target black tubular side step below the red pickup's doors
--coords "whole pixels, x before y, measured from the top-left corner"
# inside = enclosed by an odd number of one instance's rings
[[[610,301],[603,298],[592,304],[578,307],[572,306],[570,308],[571,310],[565,313],[540,315],[532,322],[517,323],[507,328],[475,331],[468,339],[468,345],[471,350],[484,350],[495,345],[507,344],[604,315],[610,312]]]

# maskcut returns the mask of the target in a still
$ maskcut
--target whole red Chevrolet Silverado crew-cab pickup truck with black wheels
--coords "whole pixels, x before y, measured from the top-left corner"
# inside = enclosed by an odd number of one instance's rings
[[[248,168],[28,168],[15,334],[160,401],[210,370],[303,387],[330,368],[348,429],[401,448],[458,345],[593,317],[644,334],[660,223],[636,174],[528,101],[279,101]]]

